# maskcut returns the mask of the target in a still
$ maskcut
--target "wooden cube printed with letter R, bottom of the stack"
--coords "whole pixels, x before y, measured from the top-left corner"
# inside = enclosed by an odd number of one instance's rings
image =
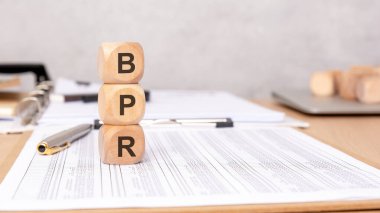
[[[144,131],[140,125],[103,125],[99,129],[99,154],[106,164],[135,164],[145,152]]]

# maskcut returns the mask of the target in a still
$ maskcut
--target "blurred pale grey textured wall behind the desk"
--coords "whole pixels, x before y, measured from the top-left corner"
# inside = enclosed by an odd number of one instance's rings
[[[0,0],[0,62],[99,81],[104,41],[143,45],[145,88],[268,97],[315,70],[380,64],[380,1]]]

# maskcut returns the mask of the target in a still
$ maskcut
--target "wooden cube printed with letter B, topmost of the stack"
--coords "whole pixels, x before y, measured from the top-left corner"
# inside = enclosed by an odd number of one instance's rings
[[[138,83],[144,74],[144,52],[139,43],[103,43],[98,53],[100,79],[107,84]]]

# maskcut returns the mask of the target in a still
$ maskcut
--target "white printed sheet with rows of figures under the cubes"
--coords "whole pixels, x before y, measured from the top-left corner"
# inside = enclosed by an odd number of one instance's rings
[[[380,171],[290,128],[146,128],[136,165],[100,162],[97,131],[53,156],[37,128],[0,185],[0,210],[380,199]]]

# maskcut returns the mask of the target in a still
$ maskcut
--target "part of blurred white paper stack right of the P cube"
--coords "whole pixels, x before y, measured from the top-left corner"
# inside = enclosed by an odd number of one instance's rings
[[[276,122],[284,113],[253,104],[227,92],[153,90],[146,119],[232,118],[235,122]]]

